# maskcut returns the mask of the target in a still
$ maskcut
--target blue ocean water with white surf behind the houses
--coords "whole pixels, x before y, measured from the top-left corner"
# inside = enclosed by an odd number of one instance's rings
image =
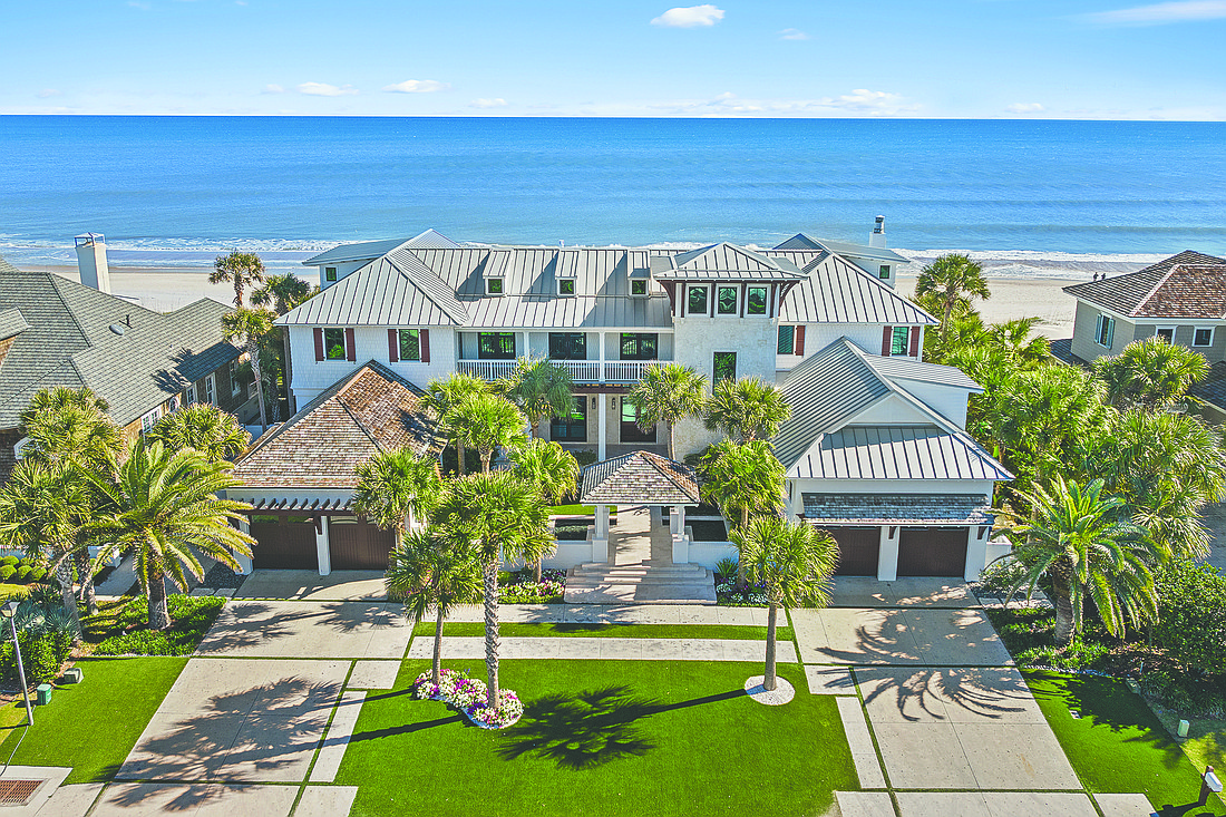
[[[0,254],[270,266],[434,227],[457,240],[771,247],[804,231],[989,271],[1226,253],[1226,124],[0,117]]]

